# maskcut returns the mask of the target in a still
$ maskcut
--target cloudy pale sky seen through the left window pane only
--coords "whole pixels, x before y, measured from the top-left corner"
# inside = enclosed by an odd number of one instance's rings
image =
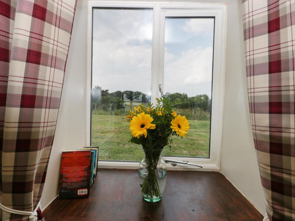
[[[152,34],[153,14],[149,11],[95,11],[92,85],[110,92],[148,93],[152,44],[147,41]]]

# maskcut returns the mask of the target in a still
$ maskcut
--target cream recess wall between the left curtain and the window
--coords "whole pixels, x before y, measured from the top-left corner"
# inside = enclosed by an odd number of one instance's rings
[[[87,11],[87,0],[78,0],[42,208],[58,194],[62,151],[79,149],[86,143]]]

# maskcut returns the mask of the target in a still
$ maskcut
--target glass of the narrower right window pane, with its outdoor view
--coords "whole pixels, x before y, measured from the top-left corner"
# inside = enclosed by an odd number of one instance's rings
[[[164,90],[182,100],[176,112],[189,120],[188,135],[173,138],[166,156],[209,157],[214,18],[165,20]]]

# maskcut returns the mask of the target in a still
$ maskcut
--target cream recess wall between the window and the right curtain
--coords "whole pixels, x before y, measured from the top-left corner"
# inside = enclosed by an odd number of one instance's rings
[[[265,213],[265,198],[250,127],[243,43],[242,1],[228,1],[221,171]]]

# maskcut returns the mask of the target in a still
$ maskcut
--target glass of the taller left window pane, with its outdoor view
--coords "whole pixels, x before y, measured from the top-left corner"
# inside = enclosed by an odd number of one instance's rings
[[[143,158],[124,116],[150,101],[152,38],[152,9],[93,10],[91,145],[100,160]]]

